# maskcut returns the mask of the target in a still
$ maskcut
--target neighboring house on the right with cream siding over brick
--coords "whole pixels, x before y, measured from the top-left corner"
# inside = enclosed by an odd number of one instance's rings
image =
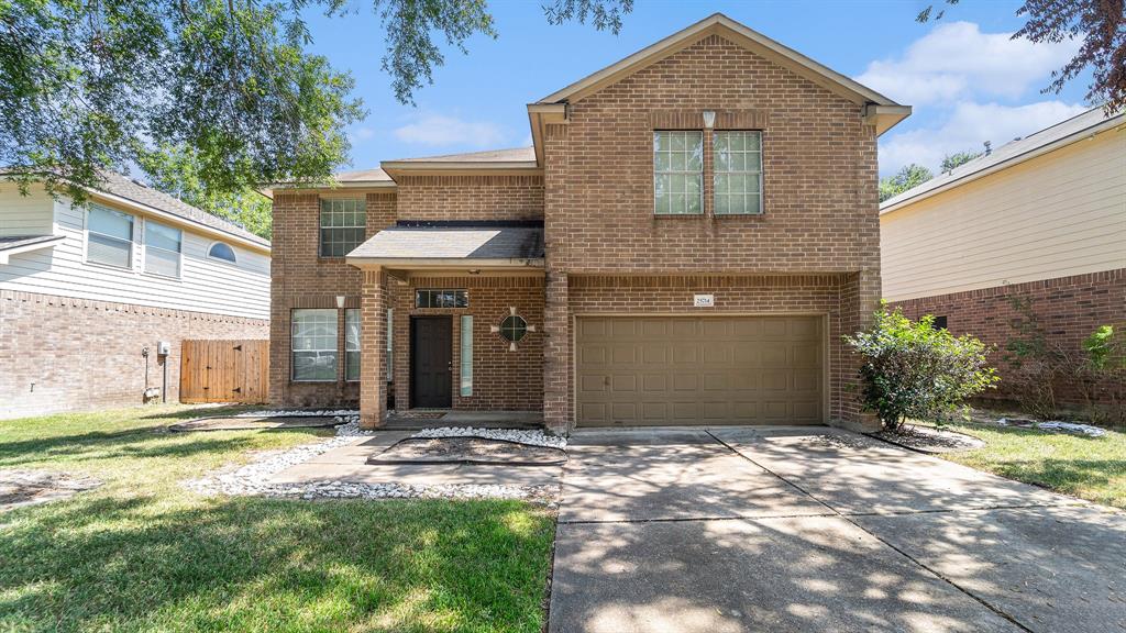
[[[1126,324],[1126,115],[1094,108],[881,205],[884,296],[1004,348],[1030,301],[1049,346]],[[1063,401],[1080,394],[1061,385]]]

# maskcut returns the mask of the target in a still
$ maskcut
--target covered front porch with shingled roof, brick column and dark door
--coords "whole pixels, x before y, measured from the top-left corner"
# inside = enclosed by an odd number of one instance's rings
[[[361,426],[542,425],[543,244],[539,222],[401,221],[351,251]]]

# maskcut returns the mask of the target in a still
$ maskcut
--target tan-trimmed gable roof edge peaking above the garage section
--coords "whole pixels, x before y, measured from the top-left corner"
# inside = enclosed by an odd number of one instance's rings
[[[900,106],[900,104],[879,92],[806,57],[788,46],[770,39],[723,14],[714,14],[704,18],[688,28],[681,29],[651,46],[642,48],[615,64],[575,81],[562,90],[552,92],[537,101],[537,104],[577,101],[713,34],[722,35],[752,53],[766,57],[857,105],[899,106],[906,108],[903,117],[910,114],[910,107]],[[899,121],[895,123],[899,123]],[[891,127],[891,125],[887,127]]]

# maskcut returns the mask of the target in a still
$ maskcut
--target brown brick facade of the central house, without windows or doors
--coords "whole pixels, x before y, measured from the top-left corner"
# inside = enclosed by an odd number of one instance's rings
[[[653,131],[700,130],[703,110],[717,113],[717,130],[762,131],[762,215],[715,216],[708,178],[703,215],[654,215]],[[396,409],[410,407],[410,316],[449,314],[454,408],[543,409],[548,426],[566,430],[574,424],[575,314],[682,313],[692,311],[692,293],[713,292],[712,313],[824,314],[830,417],[860,421],[850,390],[856,362],[839,340],[867,322],[879,297],[876,132],[861,107],[708,35],[572,100],[568,112],[566,124],[548,124],[539,139],[542,173],[403,168],[381,206],[367,199],[369,235],[396,220],[543,220],[543,276],[470,275],[454,266],[445,273],[366,270],[365,282],[341,261],[316,258],[315,193],[279,194],[271,398],[303,405],[360,400],[364,424],[377,425],[387,387]],[[466,288],[470,306],[414,309],[420,287]],[[365,310],[365,384],[295,385],[288,381],[289,311],[334,306],[336,295]],[[390,384],[379,338],[387,305],[394,307]],[[513,306],[537,331],[510,351],[490,327]],[[458,394],[463,314],[474,316],[471,398]],[[382,384],[366,384],[368,376]]]

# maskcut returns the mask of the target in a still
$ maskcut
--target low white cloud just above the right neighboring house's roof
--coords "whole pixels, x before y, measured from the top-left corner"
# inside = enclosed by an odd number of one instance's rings
[[[879,171],[891,173],[917,162],[936,173],[942,157],[963,150],[981,151],[990,141],[993,149],[1027,136],[1065,118],[1085,112],[1087,106],[1063,101],[1039,101],[1022,106],[964,102],[936,127],[888,133],[879,143]]]

